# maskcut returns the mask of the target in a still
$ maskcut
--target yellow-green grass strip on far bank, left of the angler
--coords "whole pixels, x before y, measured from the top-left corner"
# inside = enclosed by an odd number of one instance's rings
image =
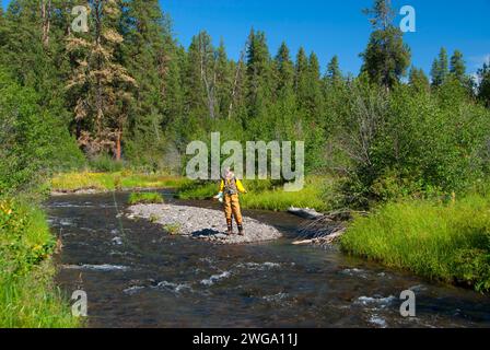
[[[188,180],[183,177],[166,175],[144,175],[129,171],[114,173],[63,173],[51,179],[54,191],[78,191],[94,189],[100,191],[135,188],[175,188]]]

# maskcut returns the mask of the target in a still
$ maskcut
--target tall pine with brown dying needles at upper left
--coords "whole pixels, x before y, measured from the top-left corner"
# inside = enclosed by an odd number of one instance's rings
[[[91,0],[93,28],[86,35],[70,34],[67,50],[73,65],[67,89],[74,105],[78,140],[89,154],[112,151],[121,158],[124,126],[137,85],[120,65],[116,51],[124,37],[118,33],[120,3],[117,0]]]

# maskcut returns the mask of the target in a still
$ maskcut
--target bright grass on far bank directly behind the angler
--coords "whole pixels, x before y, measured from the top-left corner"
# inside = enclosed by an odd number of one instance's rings
[[[281,184],[270,180],[244,180],[248,194],[241,196],[244,209],[264,209],[283,211],[291,207],[328,210],[324,200],[331,190],[332,180],[327,177],[308,176],[305,187],[298,192],[287,192]],[[180,186],[177,197],[180,199],[210,199],[218,192],[218,182],[189,183]]]

